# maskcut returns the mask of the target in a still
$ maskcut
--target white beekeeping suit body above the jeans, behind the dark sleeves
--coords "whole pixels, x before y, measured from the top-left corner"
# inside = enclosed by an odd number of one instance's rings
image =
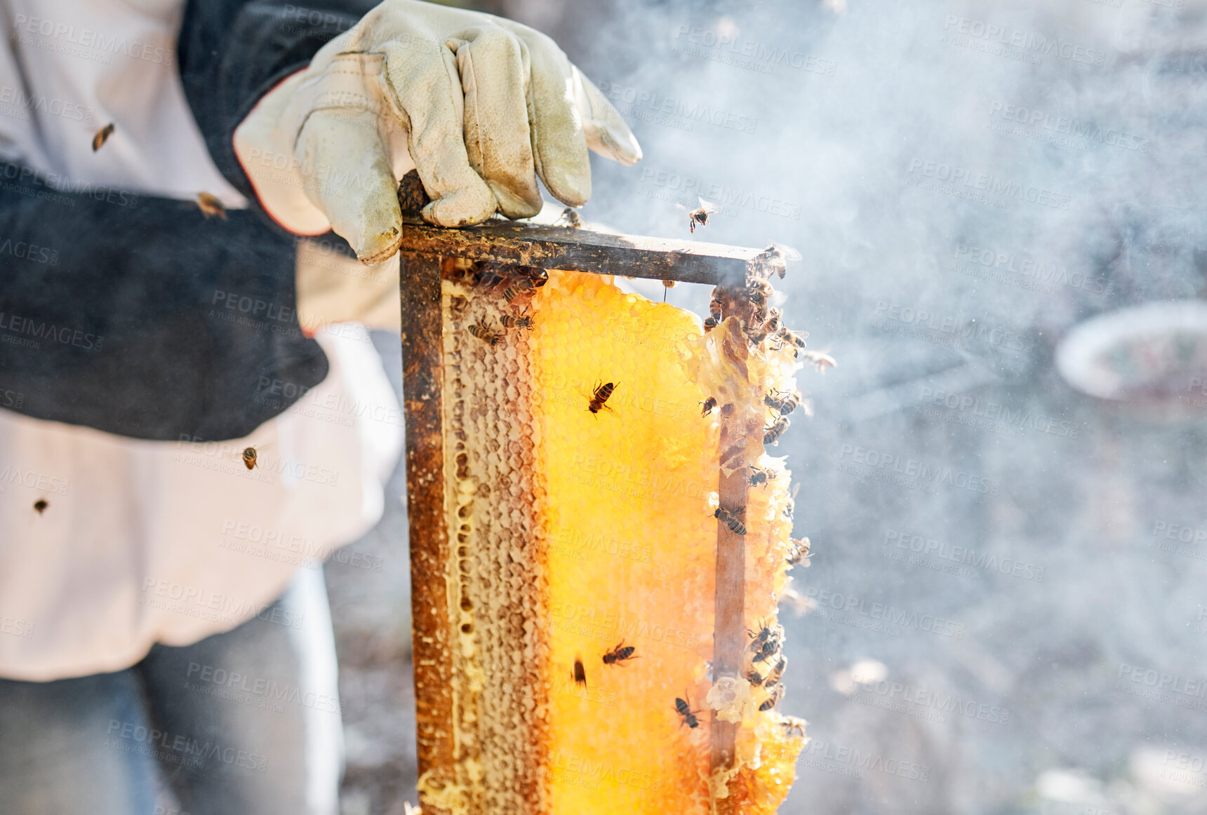
[[[181,201],[208,192],[246,206],[185,98],[175,58],[183,6],[0,0],[0,158],[65,189]],[[113,134],[93,152],[110,122]],[[380,298],[369,299],[365,310],[387,322]],[[245,439],[150,441],[0,411],[0,678],[118,670],[153,643],[233,628],[299,564],[377,522],[402,414],[362,327],[323,326],[316,339],[326,379]],[[266,393],[296,395],[290,387],[267,383]],[[253,470],[241,461],[247,446],[258,451]]]

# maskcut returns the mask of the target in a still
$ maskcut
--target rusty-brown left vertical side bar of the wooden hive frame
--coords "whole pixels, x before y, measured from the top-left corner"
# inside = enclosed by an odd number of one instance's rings
[[[444,497],[441,258],[400,254],[402,380],[410,528],[412,659],[419,790],[425,813],[445,813],[425,791],[456,781]]]

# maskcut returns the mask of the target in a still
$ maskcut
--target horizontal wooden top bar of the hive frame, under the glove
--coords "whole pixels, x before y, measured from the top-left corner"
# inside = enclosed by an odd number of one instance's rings
[[[404,223],[398,251],[596,275],[744,286],[746,263],[762,250],[495,219],[460,229]]]

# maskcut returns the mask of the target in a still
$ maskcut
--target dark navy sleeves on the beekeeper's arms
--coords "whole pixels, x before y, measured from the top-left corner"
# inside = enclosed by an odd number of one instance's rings
[[[351,10],[188,4],[186,95],[249,200],[234,128],[365,8]],[[327,375],[298,324],[295,262],[296,239],[255,205],[206,218],[0,163],[0,409],[140,439],[247,435],[298,398],[281,393]]]

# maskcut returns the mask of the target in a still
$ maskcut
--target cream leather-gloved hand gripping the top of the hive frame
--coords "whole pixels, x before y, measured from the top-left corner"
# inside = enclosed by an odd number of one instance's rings
[[[461,227],[496,210],[590,198],[587,149],[634,164],[620,115],[554,42],[507,19],[386,0],[264,95],[234,135],[261,204],[299,235],[334,229],[365,263],[401,241],[397,181],[418,169],[424,218]]]

